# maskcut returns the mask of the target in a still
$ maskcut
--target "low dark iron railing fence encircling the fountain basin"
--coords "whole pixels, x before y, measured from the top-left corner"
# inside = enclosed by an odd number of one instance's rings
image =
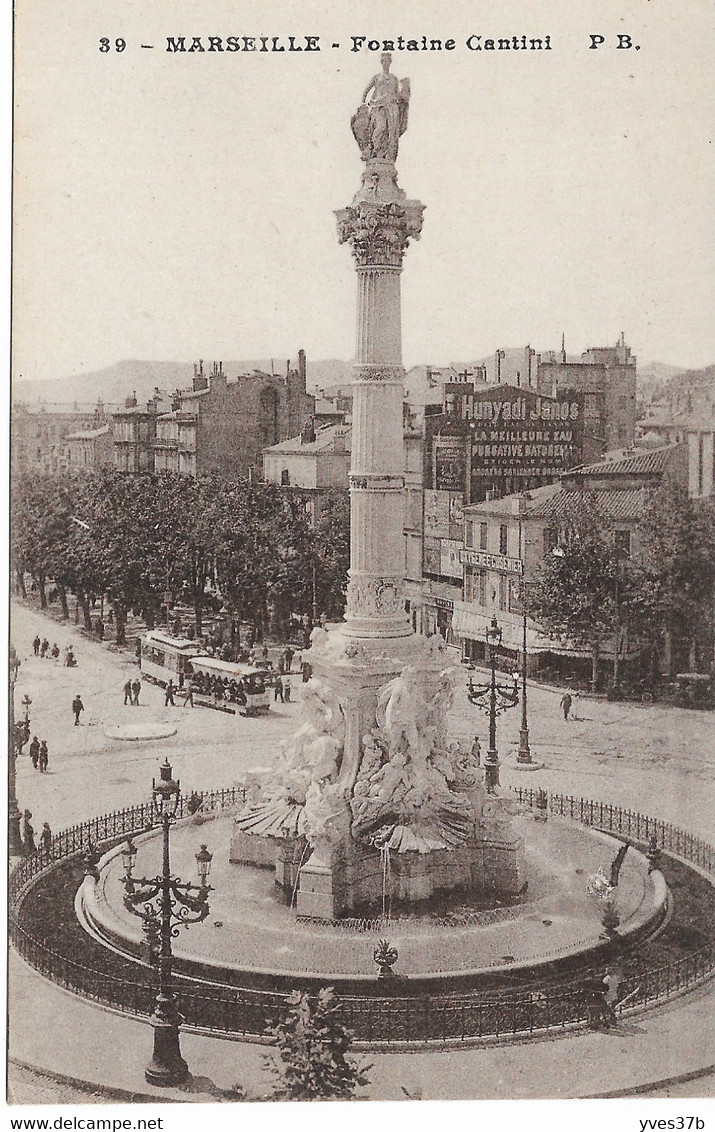
[[[516,791],[522,803],[536,805],[539,791]],[[182,797],[179,816],[188,816]],[[203,791],[203,812],[232,809],[244,800],[241,786]],[[715,850],[690,833],[660,818],[566,795],[549,798],[552,813],[636,840],[656,838],[666,849],[712,872]],[[107,848],[123,837],[153,827],[150,801],[105,814],[63,830],[52,840],[49,852],[37,850],[23,859],[10,878],[10,938],[18,953],[44,977],[83,997],[128,1014],[148,1018],[154,1009],[156,984],[146,977],[122,979],[94,970],[29,935],[21,923],[21,904],[33,882],[61,860],[79,856],[92,841]],[[139,964],[137,964],[139,968]],[[681,959],[628,976],[620,988],[621,1009],[632,1010],[662,1002],[696,986],[715,970],[715,946],[692,951]],[[268,1027],[284,1017],[286,995],[250,987],[226,987],[199,983],[182,976],[175,979],[179,1010],[187,1026],[216,1034],[265,1036]],[[480,1038],[507,1039],[539,1031],[583,1026],[589,1018],[589,996],[578,985],[553,983],[528,990],[474,990],[458,994],[415,996],[410,984],[385,997],[338,995],[343,1022],[356,1041],[367,1045],[472,1041]]]

